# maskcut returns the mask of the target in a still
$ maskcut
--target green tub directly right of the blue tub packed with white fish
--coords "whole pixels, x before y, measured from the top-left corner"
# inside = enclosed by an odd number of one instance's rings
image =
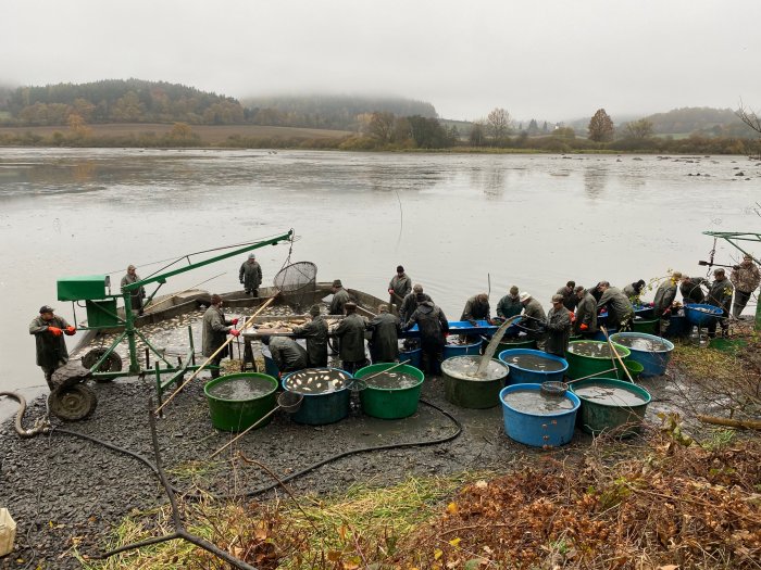
[[[417,411],[425,375],[414,366],[380,363],[360,368],[354,378],[360,391],[362,411],[382,419],[399,419]]]

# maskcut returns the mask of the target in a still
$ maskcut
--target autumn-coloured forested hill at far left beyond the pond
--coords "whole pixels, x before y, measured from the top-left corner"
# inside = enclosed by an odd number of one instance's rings
[[[98,123],[176,123],[234,125],[246,121],[229,97],[165,81],[108,79],[89,84],[18,87],[0,99],[2,123],[67,125]]]

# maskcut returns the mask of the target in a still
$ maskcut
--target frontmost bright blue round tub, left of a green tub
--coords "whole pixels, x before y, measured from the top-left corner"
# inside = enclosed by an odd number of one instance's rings
[[[532,408],[547,406],[550,410],[533,411],[513,407],[506,402],[506,396],[515,392],[526,392],[536,404]],[[573,392],[567,391],[562,396],[547,396],[541,393],[540,384],[512,384],[502,389],[499,400],[502,403],[504,433],[510,439],[534,447],[557,447],[573,439],[576,411],[581,404]],[[558,405],[558,402],[562,405]],[[558,409],[551,410],[553,407]]]

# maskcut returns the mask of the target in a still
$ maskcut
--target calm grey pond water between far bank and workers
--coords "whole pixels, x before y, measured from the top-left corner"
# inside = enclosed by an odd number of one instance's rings
[[[549,308],[569,279],[702,275],[713,240],[701,231],[758,227],[760,172],[738,156],[0,149],[0,391],[45,388],[28,334],[41,305],[85,318],[57,301],[62,277],[109,274],[116,292],[128,264],[147,277],[294,228],[291,261],[314,262],[321,281],[383,297],[401,264],[452,320],[489,287],[492,315],[512,284]],[[288,252],[257,250],[267,284]],[[236,290],[244,258],[160,293]],[[735,259],[719,244],[718,263]]]

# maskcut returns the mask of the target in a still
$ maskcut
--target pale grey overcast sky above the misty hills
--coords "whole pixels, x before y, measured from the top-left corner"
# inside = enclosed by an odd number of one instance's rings
[[[761,0],[3,0],[0,84],[398,94],[444,118],[761,107]]]

